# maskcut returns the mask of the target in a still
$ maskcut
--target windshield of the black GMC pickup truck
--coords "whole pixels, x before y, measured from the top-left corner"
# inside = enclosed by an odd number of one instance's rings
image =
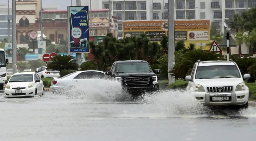
[[[116,69],[121,72],[150,72],[148,63],[124,63],[117,64]]]

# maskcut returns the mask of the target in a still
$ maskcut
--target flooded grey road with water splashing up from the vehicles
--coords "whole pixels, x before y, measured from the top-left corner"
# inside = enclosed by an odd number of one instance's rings
[[[0,96],[0,140],[256,140],[254,107],[216,112],[180,91],[75,95]]]

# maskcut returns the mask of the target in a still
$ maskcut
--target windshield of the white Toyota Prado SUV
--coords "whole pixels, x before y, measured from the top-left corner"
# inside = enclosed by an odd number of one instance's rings
[[[240,78],[240,73],[236,66],[231,65],[201,66],[197,68],[195,79],[211,78]]]

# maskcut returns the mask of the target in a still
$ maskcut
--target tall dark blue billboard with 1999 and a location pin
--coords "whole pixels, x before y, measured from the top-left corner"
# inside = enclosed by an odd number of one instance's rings
[[[68,38],[70,53],[89,52],[88,6],[68,6]]]

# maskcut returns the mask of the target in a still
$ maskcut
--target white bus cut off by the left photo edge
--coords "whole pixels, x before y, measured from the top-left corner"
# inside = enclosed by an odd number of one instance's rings
[[[3,89],[3,85],[7,80],[6,74],[6,64],[9,63],[7,56],[5,55],[5,50],[0,48],[0,90]]]

